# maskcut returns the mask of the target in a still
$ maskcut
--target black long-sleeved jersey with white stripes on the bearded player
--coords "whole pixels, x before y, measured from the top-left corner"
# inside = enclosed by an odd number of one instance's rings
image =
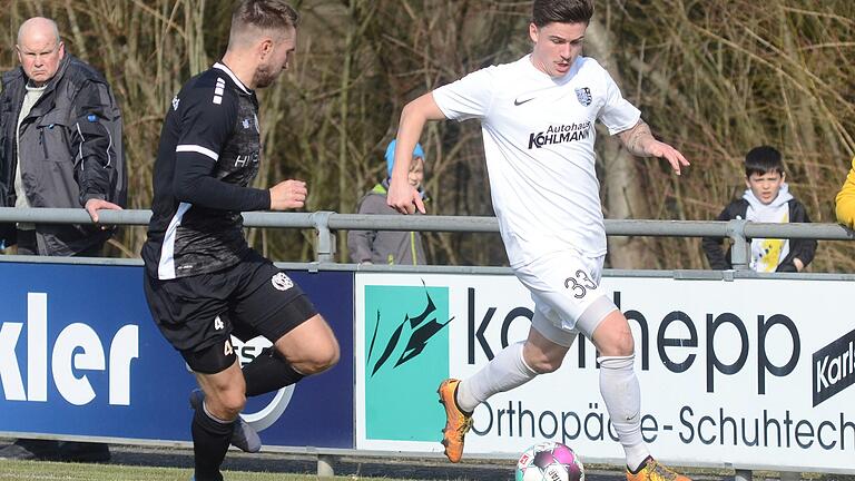
[[[222,63],[191,78],[173,99],[154,171],[154,204],[142,259],[160,279],[229,267],[248,245],[240,212],[269,208],[258,173],[255,92]]]

